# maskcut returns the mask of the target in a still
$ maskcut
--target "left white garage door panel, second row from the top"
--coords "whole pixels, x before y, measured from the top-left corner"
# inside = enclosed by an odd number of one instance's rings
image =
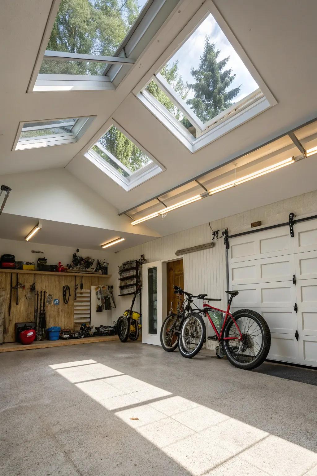
[[[294,255],[231,263],[231,286],[292,280]]]

